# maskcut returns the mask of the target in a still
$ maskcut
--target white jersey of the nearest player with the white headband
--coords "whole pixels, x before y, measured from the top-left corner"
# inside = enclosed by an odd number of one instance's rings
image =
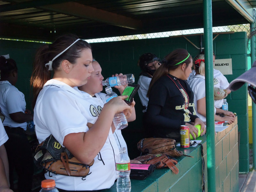
[[[39,143],[52,134],[63,146],[67,134],[87,132],[87,122],[94,124],[100,114],[98,106],[91,101],[77,88],[54,79],[47,81],[38,95],[34,109],[35,130]],[[81,177],[53,173],[50,173],[52,177],[49,177],[48,172],[45,173],[45,178],[54,179],[57,188],[70,191],[110,188],[116,179],[115,148],[112,146],[112,140],[114,138],[108,136],[100,153],[94,158],[94,164],[90,167],[91,174],[87,175],[85,180]]]

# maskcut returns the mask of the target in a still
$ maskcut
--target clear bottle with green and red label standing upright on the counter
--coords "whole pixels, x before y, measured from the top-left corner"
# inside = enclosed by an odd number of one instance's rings
[[[119,155],[116,159],[116,173],[117,173],[117,181],[116,181],[116,190],[117,192],[130,192],[131,191],[131,166],[130,166],[130,158],[125,153],[125,148],[121,147],[119,149]]]

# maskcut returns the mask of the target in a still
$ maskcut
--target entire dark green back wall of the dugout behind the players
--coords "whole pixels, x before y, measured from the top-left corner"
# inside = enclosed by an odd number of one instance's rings
[[[187,38],[196,44],[197,47],[200,47],[200,36],[188,36]],[[229,82],[247,70],[246,42],[245,32],[220,34],[213,41],[213,51],[216,53],[216,59],[232,58],[233,75],[226,76]],[[16,60],[18,64],[19,79],[16,87],[25,94],[29,109],[31,108],[29,78],[32,71],[34,54],[40,45],[40,43],[0,40],[0,54],[9,53],[10,57]],[[133,73],[135,75],[135,83],[137,83],[140,74],[137,61],[141,54],[153,52],[163,58],[176,48],[187,49],[193,57],[199,53],[199,50],[183,37],[93,43],[92,53],[93,57],[99,61],[105,78],[115,73]],[[136,102],[137,118],[134,122],[129,123],[127,128],[122,130],[131,158],[140,155],[136,144],[144,137],[141,124],[142,106],[138,94],[134,100]],[[229,110],[236,112],[238,115],[238,131],[240,132],[239,172],[248,172],[249,139],[246,86],[244,85],[238,91],[230,93],[227,101]]]

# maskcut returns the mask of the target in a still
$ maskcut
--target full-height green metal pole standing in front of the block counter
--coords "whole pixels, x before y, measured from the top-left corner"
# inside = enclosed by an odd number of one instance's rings
[[[216,192],[215,187],[215,126],[213,92],[213,48],[212,48],[212,1],[204,0],[204,59],[206,98],[206,138],[207,138],[207,182],[208,192]]]

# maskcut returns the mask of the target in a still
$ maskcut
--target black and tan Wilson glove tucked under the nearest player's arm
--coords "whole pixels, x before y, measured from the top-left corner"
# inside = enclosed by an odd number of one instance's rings
[[[34,162],[38,167],[43,167],[54,174],[68,175],[73,177],[85,177],[90,173],[90,166],[79,162],[67,148],[62,147],[60,143],[50,135],[36,148]]]

